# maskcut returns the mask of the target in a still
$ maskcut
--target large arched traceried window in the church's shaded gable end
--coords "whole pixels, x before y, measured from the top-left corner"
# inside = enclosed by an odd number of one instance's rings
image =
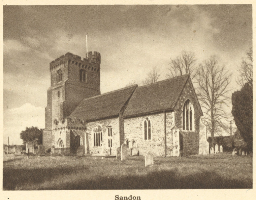
[[[183,130],[194,130],[194,109],[189,100],[183,106]]]

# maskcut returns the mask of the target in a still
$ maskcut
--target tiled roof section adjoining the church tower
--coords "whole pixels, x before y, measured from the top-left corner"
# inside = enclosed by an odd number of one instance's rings
[[[85,121],[118,116],[137,85],[83,99],[69,118]]]

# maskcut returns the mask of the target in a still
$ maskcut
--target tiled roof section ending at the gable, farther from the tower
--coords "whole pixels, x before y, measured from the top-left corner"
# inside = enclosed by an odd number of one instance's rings
[[[124,117],[173,109],[188,79],[189,75],[186,74],[137,87]]]

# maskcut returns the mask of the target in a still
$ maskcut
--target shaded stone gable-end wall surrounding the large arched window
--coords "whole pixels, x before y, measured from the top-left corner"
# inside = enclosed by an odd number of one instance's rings
[[[190,103],[194,108],[194,130],[187,131],[183,130],[183,105],[190,100]],[[197,101],[194,88],[191,81],[189,80],[184,87],[184,90],[179,97],[178,104],[175,108],[175,126],[181,131],[182,143],[183,143],[183,154],[184,155],[195,155],[199,152],[199,124],[200,124],[201,110],[200,105]]]

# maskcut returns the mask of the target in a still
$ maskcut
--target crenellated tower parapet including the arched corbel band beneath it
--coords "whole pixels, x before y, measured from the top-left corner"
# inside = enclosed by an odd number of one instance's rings
[[[100,70],[100,53],[97,51],[89,51],[87,58],[82,58],[78,55],[67,52],[65,55],[56,58],[50,63],[50,71],[60,68],[67,62],[78,66],[79,68],[84,68],[90,71],[99,72]]]

